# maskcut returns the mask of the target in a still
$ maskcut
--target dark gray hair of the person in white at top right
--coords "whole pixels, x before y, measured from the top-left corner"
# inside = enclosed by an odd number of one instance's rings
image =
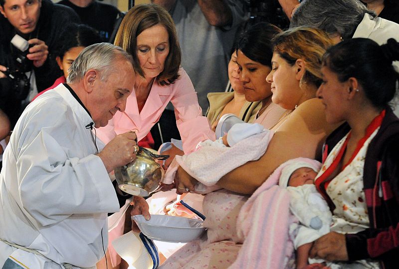
[[[305,0],[293,14],[290,28],[319,28],[348,39],[352,38],[366,13],[377,16],[359,0]]]

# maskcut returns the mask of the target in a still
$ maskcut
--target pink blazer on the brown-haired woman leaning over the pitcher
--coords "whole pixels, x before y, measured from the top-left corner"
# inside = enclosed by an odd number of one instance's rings
[[[127,115],[118,111],[107,126],[97,129],[97,136],[104,143],[108,143],[117,134],[137,129],[137,137],[140,141],[158,122],[166,105],[171,101],[175,107],[176,123],[186,154],[193,152],[200,141],[215,140],[215,134],[210,129],[207,118],[202,116],[193,83],[183,68],[180,68],[179,74],[180,78],[168,86],[160,86],[154,81],[140,113],[136,94],[133,91],[127,99],[125,109]]]

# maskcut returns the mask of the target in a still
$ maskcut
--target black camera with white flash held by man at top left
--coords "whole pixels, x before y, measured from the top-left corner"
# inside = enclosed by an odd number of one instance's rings
[[[28,78],[25,73],[31,72],[33,68],[33,62],[26,57],[29,53],[29,43],[19,35],[15,35],[11,39],[11,44],[14,46],[11,55],[15,61],[7,67],[7,71],[3,72],[10,81],[10,89],[3,91],[18,100],[23,100],[30,90],[30,77]]]

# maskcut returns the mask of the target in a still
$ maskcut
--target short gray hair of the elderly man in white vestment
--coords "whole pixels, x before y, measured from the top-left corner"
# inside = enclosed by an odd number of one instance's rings
[[[132,63],[133,58],[121,47],[110,43],[98,43],[86,47],[73,61],[69,68],[67,83],[76,83],[84,78],[86,72],[94,69],[100,72],[101,80],[108,78],[109,74],[115,72],[112,65],[118,60]],[[133,74],[132,74],[133,76]]]

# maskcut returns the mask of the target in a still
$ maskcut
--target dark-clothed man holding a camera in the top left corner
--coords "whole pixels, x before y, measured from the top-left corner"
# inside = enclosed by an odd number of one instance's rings
[[[51,52],[62,29],[80,19],[49,0],[0,0],[0,13],[0,109],[12,128],[30,98],[61,75]],[[10,43],[15,34],[27,40],[25,54]]]

